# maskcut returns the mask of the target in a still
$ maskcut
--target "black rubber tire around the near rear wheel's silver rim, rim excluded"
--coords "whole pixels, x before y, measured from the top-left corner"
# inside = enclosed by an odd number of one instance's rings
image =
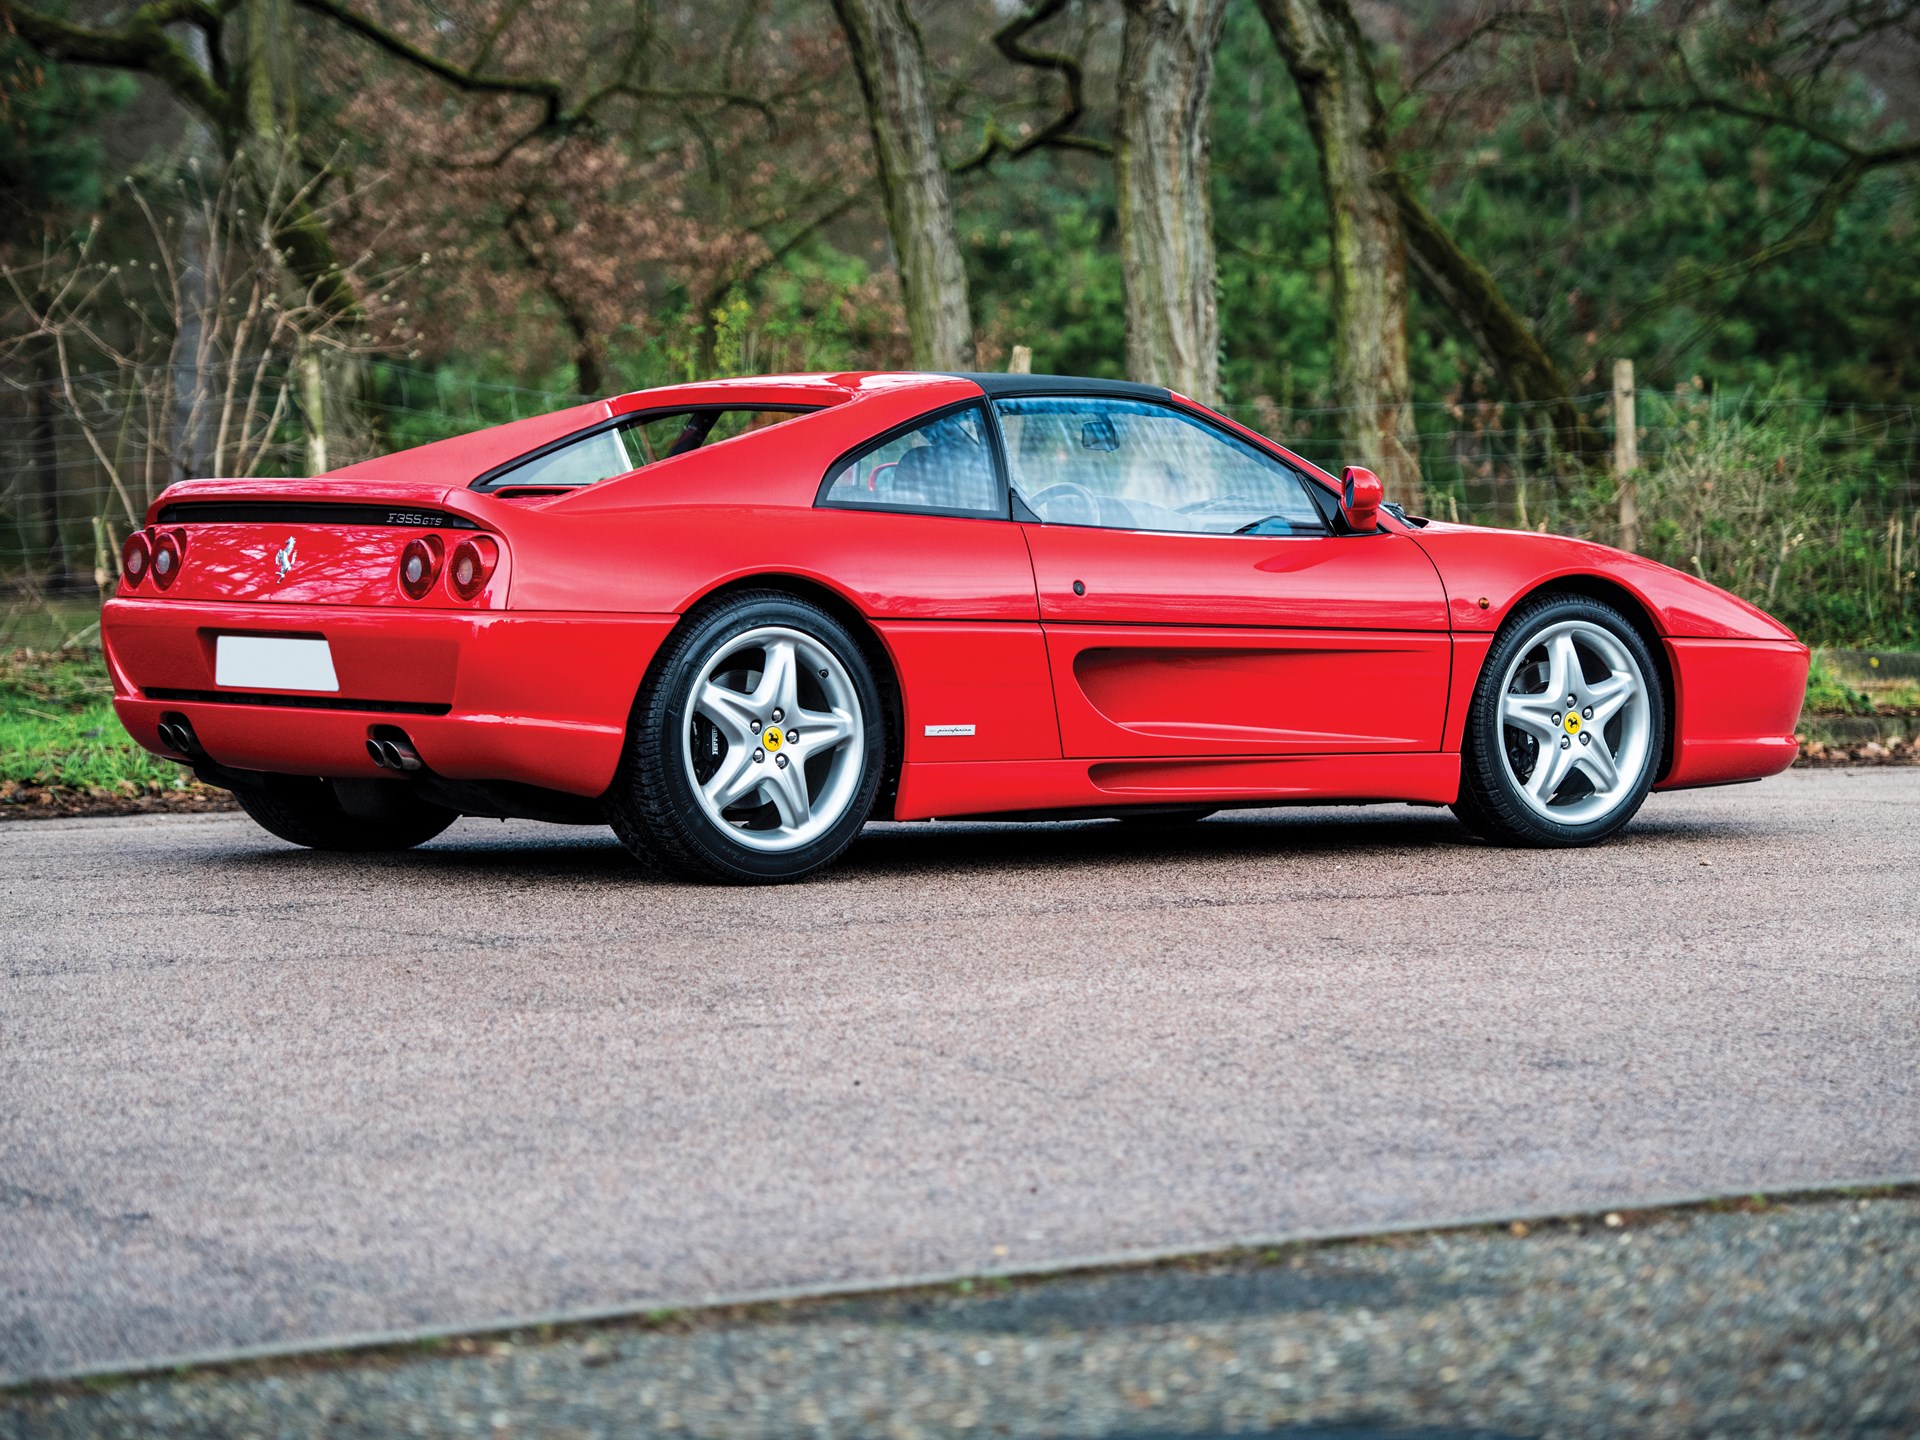
[[[693,724],[693,691],[707,676],[701,666],[726,643],[755,630],[795,630],[822,645],[851,682],[860,710],[860,739],[852,760],[858,776],[841,816],[810,843],[764,851],[743,843],[735,829],[708,816],[695,795],[682,751]],[[887,710],[874,664],[862,645],[831,614],[783,591],[741,591],[705,605],[682,620],[662,645],[628,724],[626,753],[607,791],[607,822],[620,843],[649,870],[674,879],[726,885],[780,885],[833,864],[874,810],[887,768]]]

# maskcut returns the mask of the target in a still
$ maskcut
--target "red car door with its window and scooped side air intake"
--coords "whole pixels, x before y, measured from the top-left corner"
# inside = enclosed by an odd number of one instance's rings
[[[1069,758],[1438,751],[1446,593],[1292,465],[1177,405],[996,403]]]

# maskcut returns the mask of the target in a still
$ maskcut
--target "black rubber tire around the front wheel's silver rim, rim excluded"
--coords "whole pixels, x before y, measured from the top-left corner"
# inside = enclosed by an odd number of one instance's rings
[[[1561,824],[1542,816],[1521,793],[1509,741],[1526,758],[1524,745],[1536,743],[1509,732],[1501,720],[1501,684],[1509,666],[1523,659],[1536,637],[1551,626],[1584,622],[1611,634],[1632,657],[1645,687],[1647,737],[1640,774],[1632,783],[1622,776],[1622,793],[1603,816],[1584,824]],[[1569,712],[1569,724],[1574,716]],[[1605,739],[1605,737],[1603,737]],[[1569,737],[1571,741],[1571,737]],[[1453,814],[1473,833],[1500,845],[1576,847],[1594,845],[1617,833],[1638,814],[1653,789],[1667,747],[1667,695],[1653,651],[1634,624],[1619,609],[1586,595],[1542,595],[1521,605],[1494,637],[1480,680],[1467,710],[1467,733],[1461,745],[1461,783]],[[1538,749],[1532,751],[1538,756]],[[1538,758],[1532,758],[1538,764]],[[1551,808],[1551,806],[1549,806]]]

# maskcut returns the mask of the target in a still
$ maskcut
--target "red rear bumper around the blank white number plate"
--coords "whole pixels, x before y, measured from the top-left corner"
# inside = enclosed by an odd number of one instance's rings
[[[230,770],[382,778],[374,726],[399,726],[449,780],[511,780],[599,795],[672,614],[396,611],[111,599],[102,639],[113,708],[169,755],[159,718],[184,714]],[[213,680],[215,636],[319,636],[336,693],[244,697]],[[161,691],[156,695],[154,691]]]

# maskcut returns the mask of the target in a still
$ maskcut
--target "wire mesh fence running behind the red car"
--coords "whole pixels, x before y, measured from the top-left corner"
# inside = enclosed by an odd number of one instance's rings
[[[188,380],[227,396],[190,426],[179,401],[186,380],[159,367],[0,386],[0,588],[33,595],[111,584],[119,538],[182,474],[309,472],[317,417],[292,365]],[[451,369],[361,361],[346,403],[332,405],[340,419],[324,430],[326,463],[578,399]],[[1613,394],[1580,396],[1576,405],[1611,442]],[[1225,409],[1332,472],[1369,459],[1344,440],[1348,411],[1265,399]],[[1753,599],[1814,639],[1920,641],[1914,407],[1684,388],[1640,390],[1634,409],[1640,551]],[[1546,407],[1423,403],[1413,419],[1428,515],[1620,541],[1620,476],[1569,455]],[[244,468],[228,468],[236,459]]]

